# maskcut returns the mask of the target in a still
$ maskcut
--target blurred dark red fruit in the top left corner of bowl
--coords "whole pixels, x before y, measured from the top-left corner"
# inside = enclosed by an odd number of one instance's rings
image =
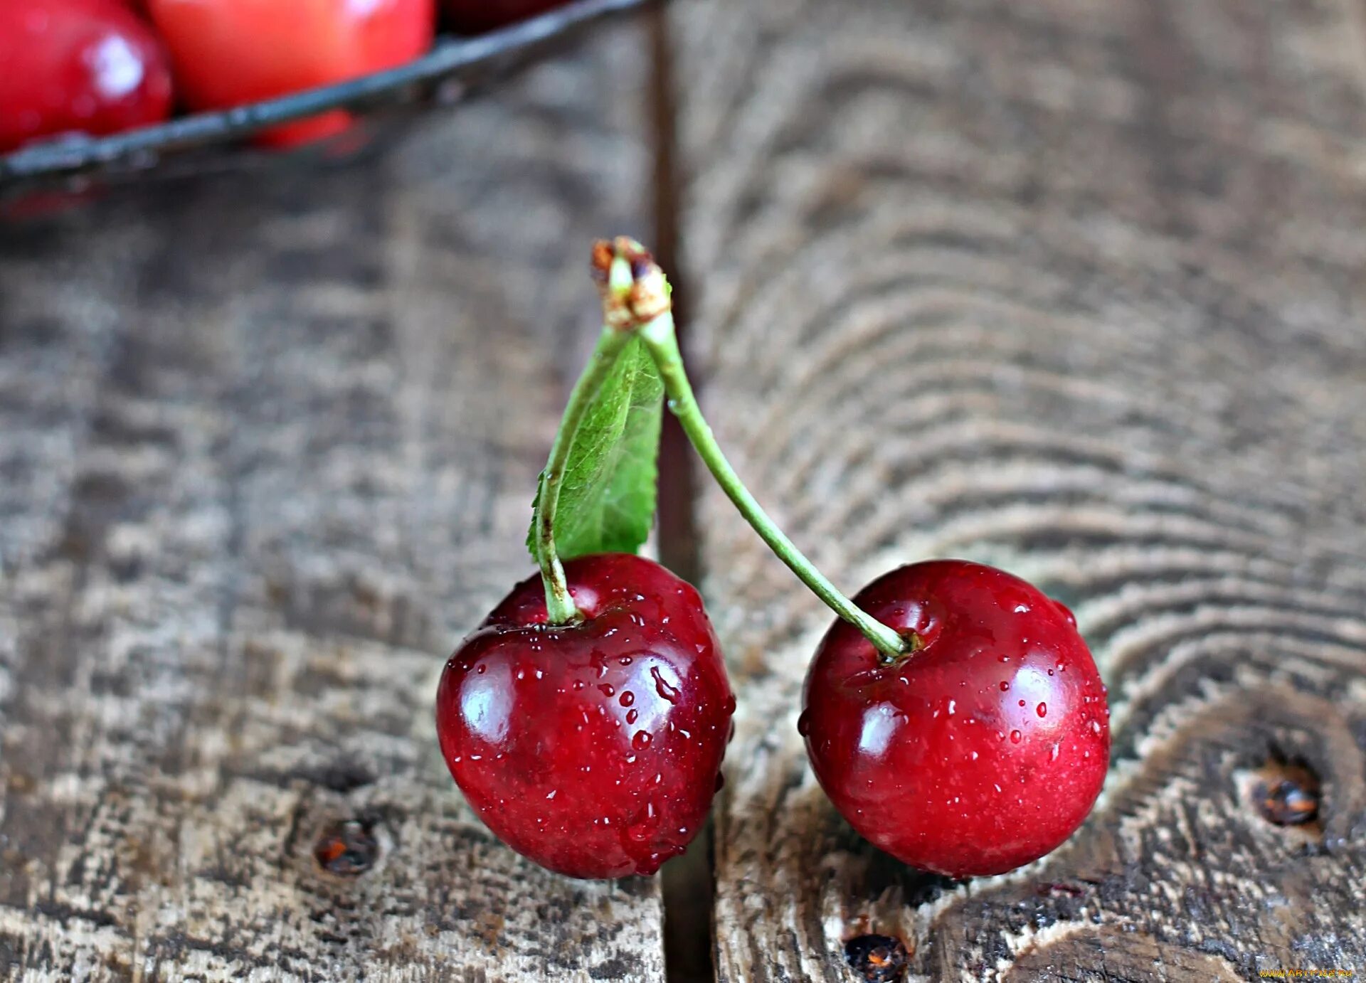
[[[165,52],[126,7],[0,3],[0,150],[63,132],[119,132],[169,113]]]

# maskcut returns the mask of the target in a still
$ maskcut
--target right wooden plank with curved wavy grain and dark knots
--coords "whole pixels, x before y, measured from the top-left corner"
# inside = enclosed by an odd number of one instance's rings
[[[740,689],[723,980],[1244,979],[1366,965],[1366,87],[1354,4],[671,8],[695,360],[841,584],[966,556],[1071,605],[1111,687],[1083,830],[989,879],[862,842],[795,722],[829,621],[702,504]],[[1299,760],[1320,821],[1254,807]],[[1306,782],[1303,775],[1296,778]]]

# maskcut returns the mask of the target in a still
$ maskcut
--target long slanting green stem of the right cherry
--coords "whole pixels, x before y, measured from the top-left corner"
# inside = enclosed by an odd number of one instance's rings
[[[821,575],[811,561],[807,560],[792,541],[788,539],[768,513],[740,482],[739,475],[725,460],[721,448],[716,442],[712,427],[702,416],[702,410],[693,395],[687,371],[683,369],[683,354],[679,351],[678,334],[673,330],[673,314],[665,311],[639,329],[641,339],[650,351],[650,356],[658,366],[664,380],[664,389],[669,396],[669,410],[679,418],[683,431],[687,434],[698,456],[706,463],[708,470],[717,483],[735,502],[735,508],[754,527],[759,538],[769,545],[779,558],[785,562],[798,578],[802,579],[811,591],[821,598],[841,618],[858,628],[869,642],[888,659],[903,658],[915,650],[912,640],[903,639],[895,629],[882,624],[862,608],[855,605]]]

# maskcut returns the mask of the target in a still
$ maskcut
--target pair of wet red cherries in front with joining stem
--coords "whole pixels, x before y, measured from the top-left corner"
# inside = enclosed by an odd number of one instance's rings
[[[637,280],[647,277],[638,247],[620,242]],[[646,304],[656,319],[657,302]],[[1071,612],[963,560],[902,567],[846,599],[714,446],[672,321],[663,343],[652,330],[669,405],[708,467],[841,614],[811,661],[798,718],[835,807],[874,845],[949,877],[1000,874],[1061,844],[1109,762],[1105,687]],[[515,851],[571,877],[653,874],[686,849],[721,788],[736,702],[716,633],[697,590],[650,560],[604,553],[561,571],[552,549],[542,573],[448,661],[441,751]]]

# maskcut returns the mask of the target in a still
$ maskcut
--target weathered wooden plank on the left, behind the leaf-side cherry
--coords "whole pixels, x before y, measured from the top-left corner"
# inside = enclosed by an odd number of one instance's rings
[[[583,250],[642,231],[641,30],[363,165],[5,231],[0,976],[663,978],[658,882],[501,846],[432,722],[530,569]]]

